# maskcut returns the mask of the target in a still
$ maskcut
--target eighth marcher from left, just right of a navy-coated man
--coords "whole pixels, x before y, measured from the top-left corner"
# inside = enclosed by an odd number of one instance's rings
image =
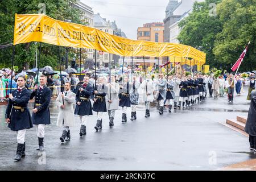
[[[133,76],[133,83],[130,87],[130,101],[131,101],[131,121],[137,119],[137,115],[136,115],[136,105],[139,104],[139,92],[138,92],[138,88],[139,88],[139,84],[140,82],[138,82],[137,77],[134,75]]]

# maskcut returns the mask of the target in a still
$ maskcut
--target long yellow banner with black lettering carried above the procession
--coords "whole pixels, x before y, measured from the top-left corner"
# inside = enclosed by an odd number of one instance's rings
[[[56,46],[92,48],[121,56],[178,56],[205,63],[205,53],[191,46],[130,40],[96,28],[55,20],[44,14],[15,15],[14,45],[43,42]]]

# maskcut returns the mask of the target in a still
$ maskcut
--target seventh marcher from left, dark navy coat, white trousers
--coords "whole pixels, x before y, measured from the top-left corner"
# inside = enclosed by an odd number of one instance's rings
[[[119,86],[119,106],[122,107],[122,122],[127,122],[127,117],[126,117],[126,112],[127,112],[127,107],[131,106],[131,101],[130,101],[130,85],[128,77],[125,76],[123,77],[123,83]]]

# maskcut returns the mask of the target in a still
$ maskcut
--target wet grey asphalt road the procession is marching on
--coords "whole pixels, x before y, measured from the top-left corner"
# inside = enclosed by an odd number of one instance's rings
[[[14,162],[16,133],[5,123],[5,108],[0,106],[0,170],[214,170],[256,158],[249,152],[248,138],[222,125],[226,118],[247,116],[247,88],[228,104],[226,97],[207,98],[189,109],[154,108],[144,118],[139,105],[136,121],[121,123],[121,110],[109,128],[104,114],[103,129],[94,130],[96,115],[90,117],[87,135],[79,136],[80,123],[71,128],[71,141],[61,143],[62,129],[56,126],[57,109],[51,102],[51,125],[46,127],[45,148],[36,151],[35,127],[26,133],[26,157]],[[32,104],[30,104],[30,107]],[[127,117],[130,118],[130,109]]]

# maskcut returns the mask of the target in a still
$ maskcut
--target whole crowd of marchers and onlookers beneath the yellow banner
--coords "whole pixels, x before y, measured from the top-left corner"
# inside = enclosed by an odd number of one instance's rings
[[[0,75],[1,81],[10,83],[10,75]],[[250,92],[255,89],[255,77],[250,75],[247,80],[241,80],[239,75],[232,73],[228,75],[214,76],[213,74],[202,75],[175,75],[164,76],[159,73],[152,78],[151,74],[141,75],[111,75],[110,77],[96,76],[94,79],[90,75],[84,76],[82,82],[78,77],[67,76],[60,80],[60,77],[40,75],[39,85],[35,84],[34,77],[26,78],[13,77],[13,91],[9,93],[9,102],[6,109],[6,122],[11,130],[17,133],[17,151],[15,160],[20,160],[25,154],[25,134],[26,130],[36,128],[39,148],[44,150],[44,132],[46,125],[51,122],[49,113],[49,103],[52,94],[57,94],[56,106],[59,109],[57,126],[63,127],[60,141],[71,139],[70,127],[75,126],[75,115],[80,119],[80,137],[86,135],[86,123],[89,115],[96,114],[97,120],[94,129],[102,129],[102,119],[104,113],[108,113],[109,127],[114,126],[116,118],[115,111],[122,109],[120,121],[127,122],[127,113],[130,110],[130,121],[137,119],[137,105],[140,101],[145,106],[144,117],[150,117],[151,102],[157,103],[159,114],[164,114],[164,107],[168,113],[172,110],[193,107],[195,104],[203,102],[205,98],[228,95],[228,101],[233,102],[234,89],[237,94],[241,94],[243,84],[249,85]],[[16,81],[16,82],[15,82]],[[64,88],[61,89],[61,81]],[[8,88],[7,84],[7,88]],[[3,84],[1,84],[3,85]],[[6,86],[6,85],[5,85]],[[16,88],[16,89],[15,89]],[[2,89],[5,91],[5,89]],[[56,93],[55,93],[56,92]],[[2,95],[5,97],[5,95]],[[28,101],[35,98],[32,116],[28,109]],[[139,100],[141,98],[141,100]],[[73,105],[75,104],[75,110]],[[131,107],[131,109],[128,109]],[[22,121],[22,122],[21,122]]]

